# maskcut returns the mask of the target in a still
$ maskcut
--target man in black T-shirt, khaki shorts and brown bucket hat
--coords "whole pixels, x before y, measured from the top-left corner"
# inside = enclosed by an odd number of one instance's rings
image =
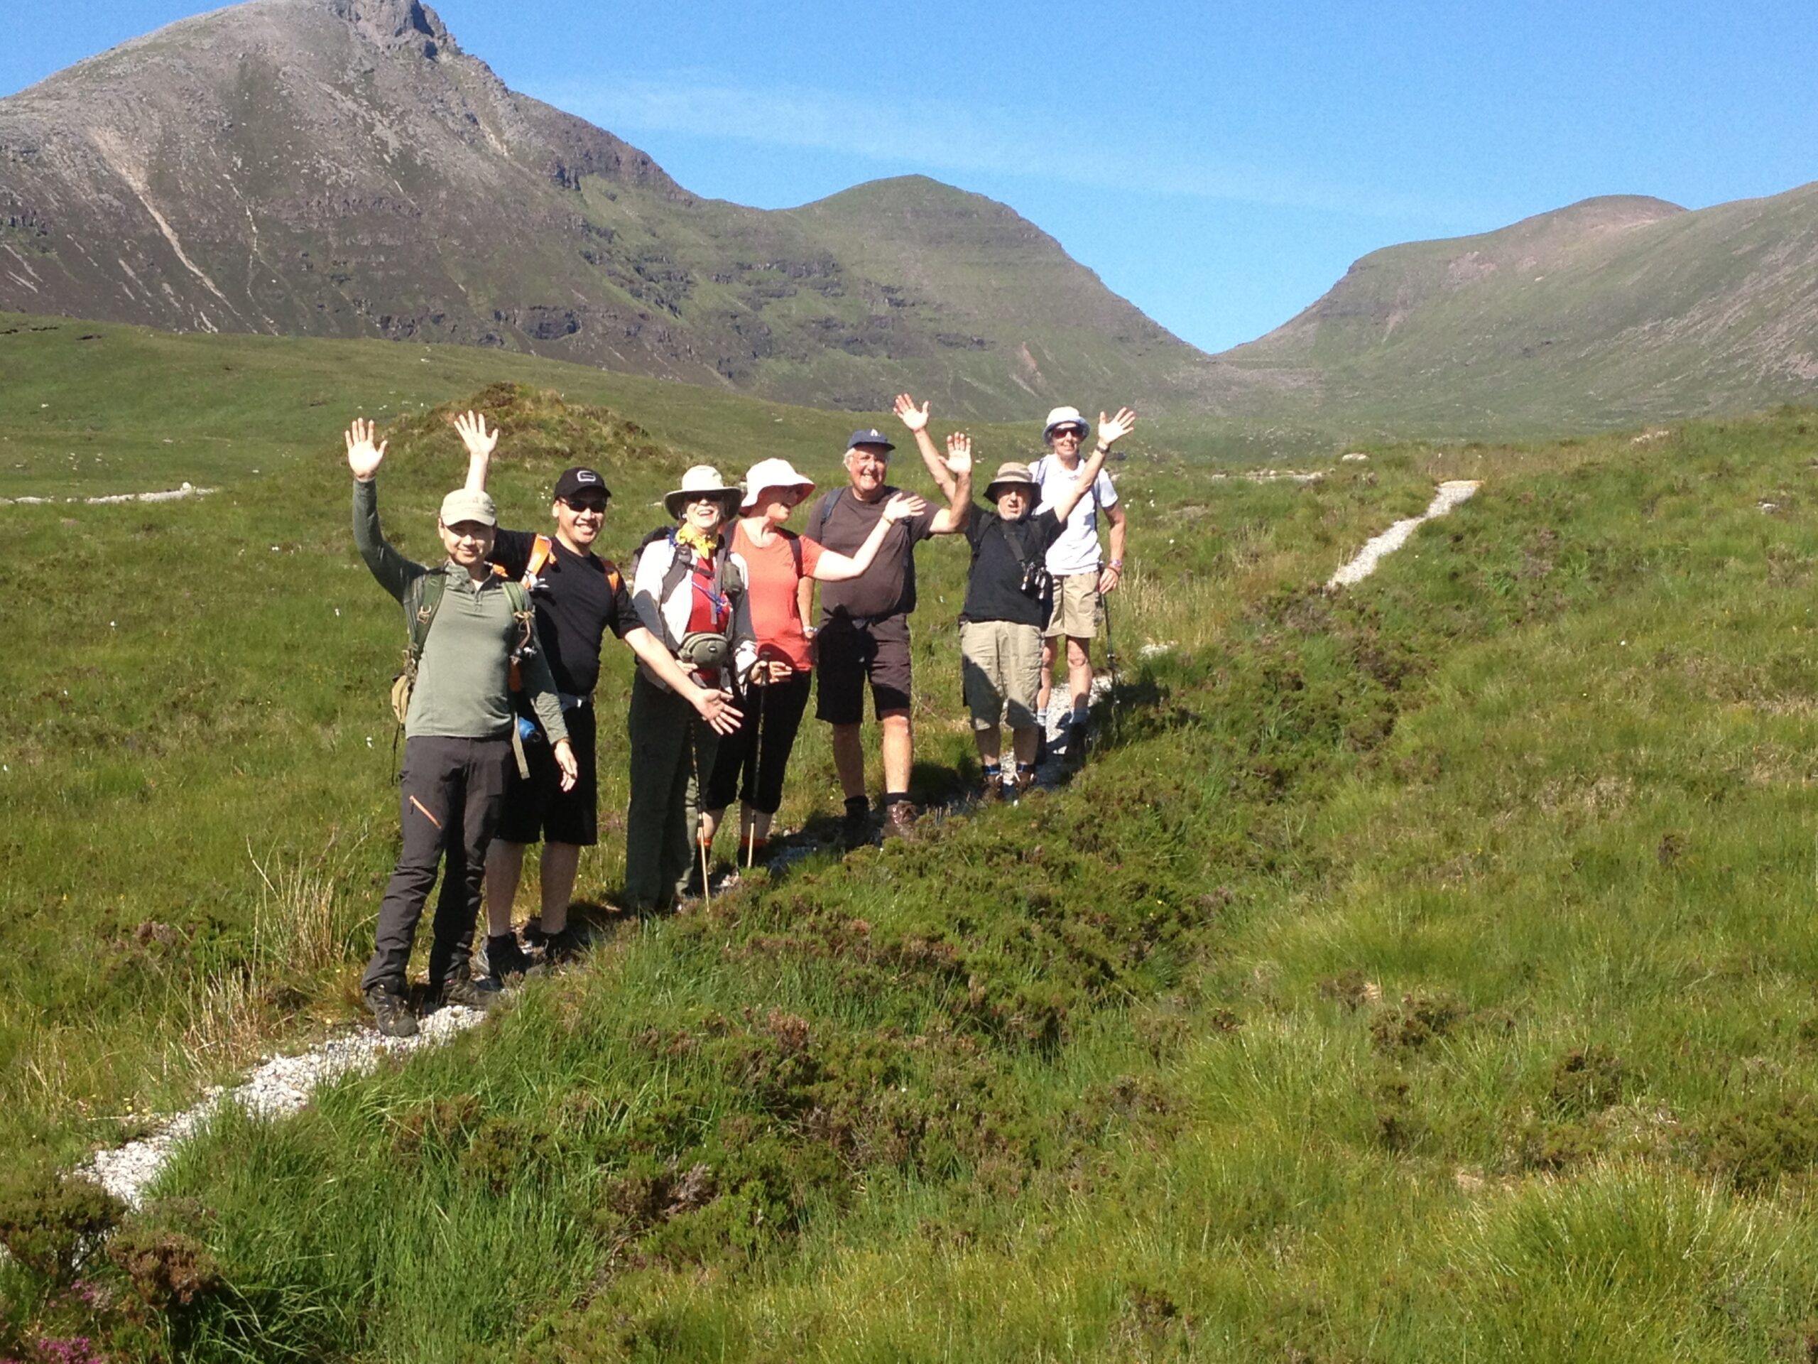
[[[1111,444],[1134,424],[1127,407],[1100,416],[1102,438],[1073,482],[1054,489],[1051,506],[1031,513],[1036,482],[1025,464],[1000,464],[985,486],[991,507],[976,507],[965,526],[973,564],[960,607],[960,675],[973,715],[973,742],[984,769],[980,795],[996,800],[1034,780],[1036,689],[1042,669],[1042,626],[1049,617],[1047,549],[1065,529],[1067,515],[1087,495]],[[1009,722],[1014,769],[1000,767],[1002,731]]]

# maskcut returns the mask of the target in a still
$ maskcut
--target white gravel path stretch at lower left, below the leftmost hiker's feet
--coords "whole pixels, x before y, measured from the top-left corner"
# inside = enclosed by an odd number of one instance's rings
[[[145,1186],[158,1177],[176,1148],[187,1140],[224,1102],[238,1104],[247,1113],[280,1118],[298,1113],[309,1104],[316,1086],[344,1075],[364,1075],[385,1057],[405,1057],[424,1048],[440,1046],[485,1018],[480,1009],[444,1008],[422,1020],[416,1037],[380,1037],[362,1028],[311,1048],[295,1057],[273,1057],[255,1069],[245,1084],[231,1089],[209,1089],[195,1108],[167,1118],[142,1140],[127,1142],[113,1151],[96,1151],[82,1166],[102,1188],[125,1204],[138,1208]]]

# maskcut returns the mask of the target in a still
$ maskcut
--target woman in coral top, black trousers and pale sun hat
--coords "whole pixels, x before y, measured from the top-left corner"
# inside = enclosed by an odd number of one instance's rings
[[[751,860],[765,847],[807,709],[814,667],[814,631],[805,624],[814,602],[811,584],[856,578],[871,567],[891,526],[918,517],[927,506],[918,496],[898,493],[884,504],[884,515],[858,553],[840,555],[782,527],[813,493],[814,484],[789,460],[758,460],[745,475],[745,496],[733,526],[733,555],[745,566],[758,666],[745,689],[744,722],[720,738],[700,837],[711,844],[725,807],[738,798],[744,804],[740,860]]]

